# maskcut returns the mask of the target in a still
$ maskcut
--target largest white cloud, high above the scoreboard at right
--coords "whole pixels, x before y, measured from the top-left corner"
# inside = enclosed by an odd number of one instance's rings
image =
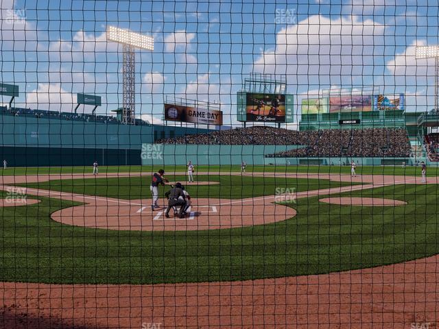
[[[365,66],[376,65],[375,54],[383,53],[384,32],[383,25],[357,16],[309,16],[281,29],[276,48],[257,58],[254,71],[287,74],[288,84],[355,84]]]

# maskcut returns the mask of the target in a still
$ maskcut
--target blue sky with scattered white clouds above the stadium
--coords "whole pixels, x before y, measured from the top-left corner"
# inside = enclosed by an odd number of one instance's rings
[[[154,36],[154,52],[137,52],[136,89],[137,113],[157,123],[165,97],[187,97],[221,103],[236,124],[252,71],[286,74],[297,103],[361,85],[406,93],[410,111],[434,103],[433,62],[414,58],[416,45],[439,45],[427,0],[0,1],[1,80],[20,85],[16,106],[69,111],[75,93],[95,93],[100,112],[117,108],[121,49],[106,25]]]

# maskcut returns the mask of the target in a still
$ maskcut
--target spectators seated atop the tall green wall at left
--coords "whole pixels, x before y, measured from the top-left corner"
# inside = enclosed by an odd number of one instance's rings
[[[116,117],[108,115],[95,115],[90,113],[74,113],[74,112],[58,112],[58,111],[46,111],[46,110],[32,110],[31,108],[7,108],[6,106],[0,106],[1,114],[12,115],[14,117],[34,117],[37,119],[61,119],[66,121],[86,121],[86,122],[98,122],[117,124],[120,123]],[[136,119],[136,125],[147,125],[146,121]]]

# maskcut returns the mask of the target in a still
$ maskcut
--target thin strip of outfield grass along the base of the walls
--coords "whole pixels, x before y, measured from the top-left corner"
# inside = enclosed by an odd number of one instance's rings
[[[200,172],[215,172],[222,173],[239,172],[241,167],[235,166],[196,166],[196,171]],[[159,166],[112,166],[99,167],[99,173],[138,173],[145,172],[150,173],[152,171],[158,171],[161,169]],[[165,166],[165,171],[173,173],[174,171],[184,172],[186,166]],[[0,170],[0,175],[45,175],[45,174],[58,174],[58,173],[92,173],[92,167],[16,167],[8,168],[3,171]],[[246,169],[247,174],[252,172],[257,173],[342,173],[349,175],[351,173],[351,166],[248,166]],[[357,166],[357,173],[363,175],[420,175],[420,167],[407,167],[403,169],[401,166]],[[439,175],[438,167],[427,167],[428,176]]]

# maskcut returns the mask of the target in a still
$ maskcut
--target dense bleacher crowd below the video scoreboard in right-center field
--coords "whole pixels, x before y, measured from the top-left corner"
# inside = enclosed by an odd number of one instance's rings
[[[268,157],[410,156],[404,128],[296,131],[276,127],[246,127],[192,134],[156,141],[163,144],[202,145],[302,145]]]

